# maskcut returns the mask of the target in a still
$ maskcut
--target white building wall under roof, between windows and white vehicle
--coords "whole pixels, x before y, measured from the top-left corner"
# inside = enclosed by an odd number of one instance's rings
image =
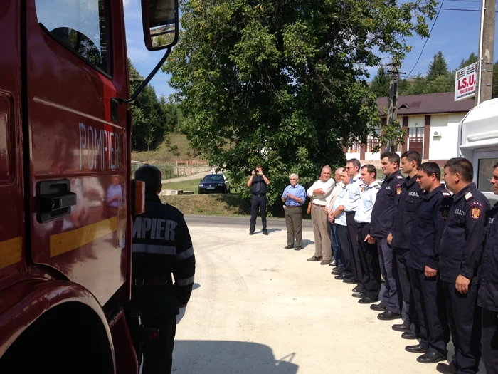
[[[458,123],[464,115],[462,113],[430,116],[430,160],[447,160],[457,157]],[[434,136],[435,131],[438,131],[441,136]]]

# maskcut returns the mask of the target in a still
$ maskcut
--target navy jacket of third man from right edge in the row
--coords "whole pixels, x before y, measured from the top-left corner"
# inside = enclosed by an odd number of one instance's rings
[[[417,270],[424,270],[426,265],[437,270],[439,243],[453,204],[453,197],[444,185],[440,185],[432,192],[424,192],[422,196],[422,202],[415,212],[413,221],[407,264]]]

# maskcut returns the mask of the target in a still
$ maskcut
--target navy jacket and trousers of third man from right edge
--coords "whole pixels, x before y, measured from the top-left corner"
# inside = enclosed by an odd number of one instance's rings
[[[425,266],[439,269],[439,243],[453,198],[444,185],[424,192],[413,221],[408,266],[415,311],[418,316],[420,346],[446,357],[450,340],[445,300],[438,276],[425,276]]]

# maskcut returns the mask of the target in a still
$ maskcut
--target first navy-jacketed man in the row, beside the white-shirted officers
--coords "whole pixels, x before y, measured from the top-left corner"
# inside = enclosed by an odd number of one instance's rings
[[[377,318],[383,321],[391,321],[401,318],[401,307],[403,299],[401,290],[396,288],[398,269],[396,259],[393,256],[391,244],[387,237],[393,233],[396,207],[401,195],[401,186],[405,177],[399,171],[400,159],[396,152],[386,152],[381,155],[382,171],[386,175],[381,190],[377,194],[375,205],[373,205],[370,237],[376,239],[378,246],[378,262],[381,272],[386,281],[386,290],[382,300],[378,304],[372,304],[373,311],[382,311]]]

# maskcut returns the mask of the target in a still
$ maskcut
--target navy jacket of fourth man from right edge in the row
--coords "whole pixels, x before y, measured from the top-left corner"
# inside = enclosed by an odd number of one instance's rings
[[[410,248],[415,211],[422,201],[422,189],[417,183],[417,176],[407,177],[401,186],[401,196],[398,200],[398,210],[394,221],[393,246]]]

